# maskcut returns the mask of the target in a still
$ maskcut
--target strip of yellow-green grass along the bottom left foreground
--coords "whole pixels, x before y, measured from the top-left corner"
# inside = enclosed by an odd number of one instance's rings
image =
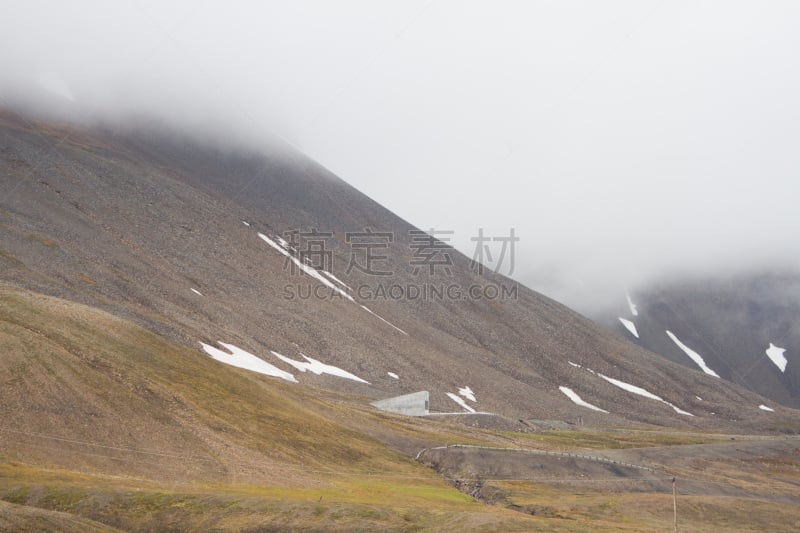
[[[435,479],[329,481],[319,489],[191,484],[164,490],[153,481],[6,464],[0,465],[0,500],[126,530],[531,529],[529,517],[476,503]]]

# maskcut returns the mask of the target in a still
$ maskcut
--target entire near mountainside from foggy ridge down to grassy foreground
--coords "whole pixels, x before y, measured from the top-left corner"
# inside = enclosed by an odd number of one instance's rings
[[[0,530],[663,531],[676,475],[687,527],[795,521],[797,439],[742,433],[796,411],[450,248],[428,276],[424,236],[290,150],[2,113],[0,187]],[[348,272],[365,228],[391,274]],[[370,405],[419,390],[441,416]]]

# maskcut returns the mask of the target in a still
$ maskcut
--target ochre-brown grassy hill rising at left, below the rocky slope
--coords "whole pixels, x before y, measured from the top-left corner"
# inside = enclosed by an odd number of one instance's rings
[[[4,528],[88,527],[28,506],[135,529],[523,520],[336,423],[346,408],[308,388],[106,313],[2,287],[0,343],[13,414],[0,426],[0,498],[17,517]]]

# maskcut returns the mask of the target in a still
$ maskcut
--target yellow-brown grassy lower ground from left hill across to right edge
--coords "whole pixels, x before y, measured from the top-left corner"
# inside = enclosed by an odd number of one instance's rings
[[[380,413],[366,398],[228,367],[105,312],[7,285],[0,343],[0,408],[10,415],[0,425],[0,531],[659,531],[671,524],[668,494],[636,480],[627,480],[630,491],[553,485],[552,476],[486,479],[466,463],[437,473],[411,457],[453,442],[623,448],[615,453],[670,468],[639,450],[658,457],[743,438],[624,428],[522,434]],[[672,468],[696,475],[694,461]],[[702,463],[739,492],[704,496],[698,486],[683,500],[687,524],[777,531],[797,523],[797,461],[748,461]],[[755,496],[742,492],[742,465]],[[776,476],[783,499],[764,501]],[[478,478],[485,485],[477,501],[453,488]]]

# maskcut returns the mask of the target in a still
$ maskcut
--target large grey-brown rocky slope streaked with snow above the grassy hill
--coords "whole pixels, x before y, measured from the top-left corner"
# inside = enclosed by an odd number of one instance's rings
[[[795,416],[478,271],[291,149],[11,112],[0,146],[4,284],[265,379],[365,404],[428,390],[432,411],[513,420],[764,428]]]

